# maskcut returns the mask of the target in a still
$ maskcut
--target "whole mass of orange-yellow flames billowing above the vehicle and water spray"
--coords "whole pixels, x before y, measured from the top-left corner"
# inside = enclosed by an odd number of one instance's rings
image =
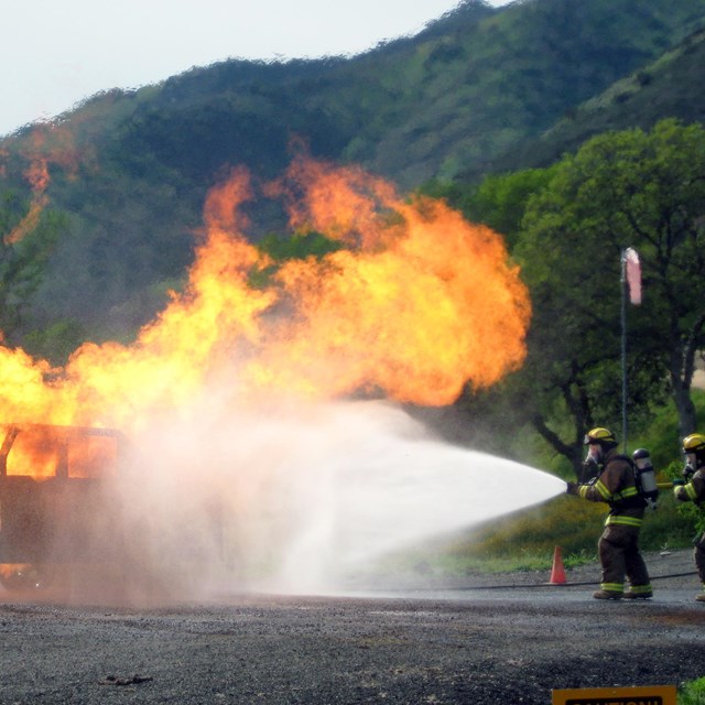
[[[284,199],[293,228],[345,249],[253,286],[272,262],[246,238],[241,206],[256,194],[236,170],[207,197],[187,285],[133,344],[87,343],[62,369],[0,348],[0,421],[129,435],[224,379],[240,404],[361,392],[442,405],[521,366],[531,308],[500,236],[443,202],[303,158],[264,192]]]

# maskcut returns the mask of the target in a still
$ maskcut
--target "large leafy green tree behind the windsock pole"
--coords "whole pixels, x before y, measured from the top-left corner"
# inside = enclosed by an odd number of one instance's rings
[[[522,372],[540,433],[579,459],[582,434],[619,419],[620,260],[634,247],[644,301],[630,308],[632,414],[668,390],[680,433],[705,326],[705,129],[675,120],[598,135],[566,155],[529,200],[514,254],[534,321]],[[551,426],[564,413],[571,423]],[[568,430],[570,427],[570,430]],[[568,435],[567,440],[565,436]]]

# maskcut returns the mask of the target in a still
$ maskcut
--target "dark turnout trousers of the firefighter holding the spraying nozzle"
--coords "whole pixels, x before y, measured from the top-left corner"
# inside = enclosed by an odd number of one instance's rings
[[[609,524],[597,544],[603,566],[600,588],[608,593],[623,593],[625,576],[634,592],[651,592],[649,572],[639,552],[639,529]],[[703,547],[705,568],[705,545]],[[705,570],[703,572],[705,575]],[[636,588],[636,589],[634,589]]]

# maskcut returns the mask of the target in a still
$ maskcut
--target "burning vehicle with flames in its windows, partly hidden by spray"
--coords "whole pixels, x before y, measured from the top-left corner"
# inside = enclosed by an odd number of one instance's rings
[[[45,587],[56,568],[120,547],[111,480],[126,438],[116,430],[0,425],[0,583]]]

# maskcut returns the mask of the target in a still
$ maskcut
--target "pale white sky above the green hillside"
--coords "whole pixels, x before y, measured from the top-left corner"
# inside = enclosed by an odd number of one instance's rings
[[[499,7],[509,0],[489,0]],[[227,58],[357,54],[458,0],[0,0],[0,135]]]

